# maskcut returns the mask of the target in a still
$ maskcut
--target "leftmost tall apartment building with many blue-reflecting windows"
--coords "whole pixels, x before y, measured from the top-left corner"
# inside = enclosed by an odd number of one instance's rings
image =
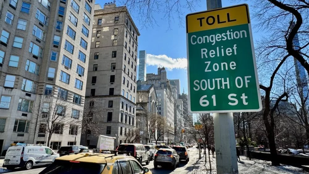
[[[61,100],[58,116],[80,121],[93,7],[92,0],[0,0],[0,151],[46,143],[47,95],[49,104]],[[79,144],[77,125],[54,126],[50,147]]]

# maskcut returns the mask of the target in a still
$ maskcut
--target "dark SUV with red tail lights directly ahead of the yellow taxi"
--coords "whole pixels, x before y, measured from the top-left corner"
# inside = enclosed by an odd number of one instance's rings
[[[142,144],[120,144],[117,151],[129,151],[131,156],[139,161],[140,164],[145,163],[148,165],[150,161],[150,153]],[[119,152],[119,154],[123,154]]]

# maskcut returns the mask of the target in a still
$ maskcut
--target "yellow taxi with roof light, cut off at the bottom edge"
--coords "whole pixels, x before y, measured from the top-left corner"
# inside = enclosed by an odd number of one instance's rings
[[[118,151],[103,153],[72,153],[61,156],[39,174],[152,174],[132,156]]]

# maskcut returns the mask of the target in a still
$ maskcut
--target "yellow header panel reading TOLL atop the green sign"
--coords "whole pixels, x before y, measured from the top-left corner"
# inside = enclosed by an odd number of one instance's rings
[[[247,4],[191,13],[186,16],[187,33],[250,23]]]

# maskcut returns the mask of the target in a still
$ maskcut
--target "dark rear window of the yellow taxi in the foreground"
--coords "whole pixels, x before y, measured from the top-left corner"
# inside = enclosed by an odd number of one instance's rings
[[[99,174],[106,164],[84,163],[79,161],[55,160],[39,174]]]

